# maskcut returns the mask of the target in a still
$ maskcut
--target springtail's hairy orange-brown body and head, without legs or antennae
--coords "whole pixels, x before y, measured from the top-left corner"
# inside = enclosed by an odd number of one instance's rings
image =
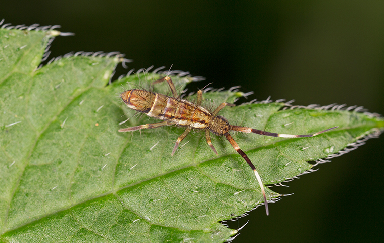
[[[129,108],[167,121],[167,125],[210,129],[217,135],[224,135],[230,130],[230,125],[224,117],[213,116],[204,107],[186,100],[136,89],[123,92],[121,98]]]

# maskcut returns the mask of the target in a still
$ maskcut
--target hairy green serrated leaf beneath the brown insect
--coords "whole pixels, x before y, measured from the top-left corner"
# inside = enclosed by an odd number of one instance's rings
[[[212,136],[216,156],[196,131],[170,156],[181,128],[119,133],[157,122],[129,111],[118,97],[121,86],[148,88],[161,75],[130,75],[106,86],[120,56],[70,56],[37,69],[58,34],[0,29],[0,240],[223,242],[236,234],[218,221],[254,209],[263,198],[229,142]],[[171,77],[180,90],[193,80]],[[169,92],[167,84],[154,89]],[[215,107],[242,95],[215,91],[203,98]],[[306,173],[313,167],[307,161],[344,153],[384,127],[370,113],[287,105],[261,102],[220,112],[232,124],[284,134],[339,126],[300,139],[236,133],[265,185]]]

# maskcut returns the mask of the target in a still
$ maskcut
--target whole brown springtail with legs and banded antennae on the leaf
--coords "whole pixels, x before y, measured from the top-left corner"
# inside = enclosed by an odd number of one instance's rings
[[[166,81],[169,87],[171,88],[173,97],[155,93],[155,92],[150,92],[147,90],[140,90],[140,89],[127,90],[120,94],[121,98],[129,108],[136,110],[138,112],[145,113],[150,117],[161,119],[163,121],[161,121],[160,123],[152,123],[152,124],[145,124],[145,125],[140,125],[136,127],[124,128],[124,129],[120,129],[119,132],[130,132],[130,131],[136,131],[136,130],[141,130],[145,128],[146,129],[159,128],[159,127],[168,126],[168,125],[185,127],[186,130],[184,131],[183,134],[180,135],[180,137],[178,137],[171,155],[173,155],[176,152],[180,142],[186,137],[186,135],[192,129],[205,130],[205,138],[207,140],[207,143],[212,148],[213,152],[216,155],[218,155],[218,153],[215,147],[212,145],[209,132],[212,132],[217,136],[225,136],[227,140],[230,142],[230,144],[233,146],[233,148],[240,155],[242,155],[242,157],[247,161],[248,165],[254,171],[256,179],[260,185],[261,192],[263,193],[263,196],[264,196],[265,210],[267,215],[269,214],[268,202],[265,196],[263,182],[261,181],[259,173],[257,172],[255,166],[252,164],[248,156],[240,149],[236,141],[234,141],[233,137],[229,134],[229,131],[256,133],[260,135],[271,136],[271,137],[281,137],[281,138],[305,138],[305,137],[313,137],[321,133],[327,132],[331,129],[338,128],[338,127],[333,127],[333,128],[329,128],[314,134],[291,135],[291,134],[270,133],[270,132],[253,129],[253,128],[230,125],[227,119],[225,119],[223,116],[217,115],[217,113],[219,113],[219,111],[225,106],[235,106],[235,104],[224,102],[220,104],[211,113],[204,107],[200,106],[202,102],[202,96],[203,96],[202,90],[199,90],[197,92],[197,101],[196,101],[196,104],[194,104],[189,101],[180,99],[179,95],[176,92],[175,86],[172,82],[172,79],[169,76],[160,78],[156,80],[153,84],[158,84],[164,81]]]

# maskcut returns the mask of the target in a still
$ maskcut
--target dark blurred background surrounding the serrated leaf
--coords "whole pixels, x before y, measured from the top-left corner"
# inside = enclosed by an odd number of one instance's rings
[[[37,1],[36,1],[37,2]],[[204,76],[190,89],[242,86],[250,99],[362,105],[384,114],[384,1],[8,1],[13,25],[62,25],[50,58],[120,51],[129,69]],[[118,67],[117,75],[128,70]],[[234,242],[381,241],[383,136],[275,187],[295,193],[231,224]]]

